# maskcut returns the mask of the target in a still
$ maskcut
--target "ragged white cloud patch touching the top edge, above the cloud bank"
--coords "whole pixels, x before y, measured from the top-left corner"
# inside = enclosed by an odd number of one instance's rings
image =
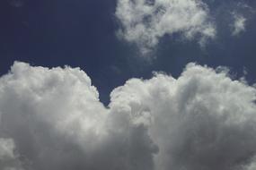
[[[181,33],[188,39],[199,35],[201,45],[216,35],[207,4],[200,0],[119,0],[116,17],[121,23],[119,36],[135,42],[143,53],[164,35]]]

